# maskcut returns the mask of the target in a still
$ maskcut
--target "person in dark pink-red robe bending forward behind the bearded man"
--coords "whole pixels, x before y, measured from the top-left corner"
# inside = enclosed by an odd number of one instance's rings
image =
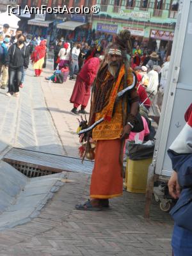
[[[73,115],[86,114],[84,110],[88,104],[88,100],[91,95],[91,86],[99,70],[102,56],[99,58],[93,57],[88,60],[79,74],[77,75],[76,84],[70,97],[70,102],[74,104],[74,108],[71,110]],[[81,105],[81,109],[77,111],[77,108]]]

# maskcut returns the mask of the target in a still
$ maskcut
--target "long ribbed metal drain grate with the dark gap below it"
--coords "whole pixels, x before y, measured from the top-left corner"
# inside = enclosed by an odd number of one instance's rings
[[[22,148],[12,148],[3,158],[6,163],[28,177],[38,177],[56,172],[81,172],[91,174],[93,162],[75,157],[47,154]]]

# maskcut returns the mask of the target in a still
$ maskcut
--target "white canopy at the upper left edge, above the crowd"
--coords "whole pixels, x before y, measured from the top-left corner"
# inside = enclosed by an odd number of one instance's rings
[[[19,20],[20,20],[19,17],[17,17],[13,13],[10,13],[10,15],[8,12],[0,13],[0,29],[3,29],[3,25],[5,23],[8,23],[10,25],[9,32],[12,35],[15,35],[16,29],[19,28],[18,26]]]

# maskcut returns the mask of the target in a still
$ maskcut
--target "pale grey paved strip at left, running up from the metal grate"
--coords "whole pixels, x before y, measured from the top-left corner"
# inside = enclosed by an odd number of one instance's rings
[[[28,69],[20,97],[7,97],[0,90],[0,152],[19,147],[54,154],[64,154],[61,141],[47,111],[41,88],[41,77]]]

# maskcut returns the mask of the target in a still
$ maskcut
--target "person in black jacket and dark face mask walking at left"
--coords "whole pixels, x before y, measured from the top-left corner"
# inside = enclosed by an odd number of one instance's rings
[[[17,43],[10,46],[8,55],[6,56],[5,66],[8,68],[8,92],[7,96],[19,96],[19,85],[22,77],[22,68],[28,68],[29,65],[29,51],[24,44],[25,37],[19,35]]]

